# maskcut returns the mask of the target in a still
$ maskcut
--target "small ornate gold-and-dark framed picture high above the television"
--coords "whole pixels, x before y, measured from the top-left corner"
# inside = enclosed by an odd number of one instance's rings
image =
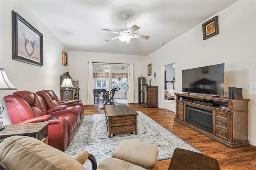
[[[203,40],[217,34],[219,34],[218,16],[215,16],[203,24]]]

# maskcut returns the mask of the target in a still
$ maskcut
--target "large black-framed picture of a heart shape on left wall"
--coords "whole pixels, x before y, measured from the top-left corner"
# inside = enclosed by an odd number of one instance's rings
[[[12,59],[43,66],[43,34],[12,11]]]

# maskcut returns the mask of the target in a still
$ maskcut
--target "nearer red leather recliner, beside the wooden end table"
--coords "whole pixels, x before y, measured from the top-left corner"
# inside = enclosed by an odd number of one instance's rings
[[[49,145],[65,150],[70,144],[78,125],[78,108],[67,109],[61,105],[46,110],[36,93],[17,91],[4,97],[12,124],[50,121],[48,126]],[[52,120],[54,117],[58,119]],[[80,120],[80,119],[79,119]]]

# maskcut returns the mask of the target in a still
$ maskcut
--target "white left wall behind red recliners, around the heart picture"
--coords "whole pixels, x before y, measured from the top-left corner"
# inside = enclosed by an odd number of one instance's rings
[[[43,67],[12,59],[12,10],[43,34]],[[12,84],[18,88],[0,91],[0,105],[4,106],[0,121],[4,125],[12,124],[4,96],[11,95],[14,91],[36,92],[44,89],[52,89],[60,96],[60,75],[68,71],[68,67],[62,65],[63,50],[65,48],[62,43],[36,18],[23,1],[0,1],[0,67],[4,68]]]

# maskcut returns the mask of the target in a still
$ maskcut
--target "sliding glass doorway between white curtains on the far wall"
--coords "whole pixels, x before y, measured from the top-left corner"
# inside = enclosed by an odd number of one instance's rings
[[[94,103],[105,103],[102,89],[111,95],[111,90],[118,87],[115,91],[114,103],[128,103],[128,77],[129,65],[120,64],[93,64],[93,89],[100,91],[100,94],[94,94]],[[112,93],[113,94],[113,93]]]

